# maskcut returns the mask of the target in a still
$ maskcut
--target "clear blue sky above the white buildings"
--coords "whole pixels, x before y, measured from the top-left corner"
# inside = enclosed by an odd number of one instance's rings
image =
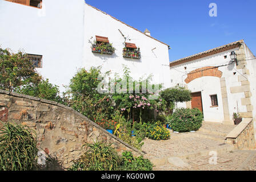
[[[170,61],[244,39],[256,55],[256,1],[86,0],[86,3],[169,44]],[[209,16],[210,3],[217,17]]]

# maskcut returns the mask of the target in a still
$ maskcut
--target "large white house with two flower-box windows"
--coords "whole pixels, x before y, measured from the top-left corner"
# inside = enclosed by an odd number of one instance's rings
[[[97,53],[95,40],[111,43],[114,53]],[[77,69],[92,66],[122,75],[127,65],[134,78],[152,74],[153,82],[170,86],[169,46],[84,0],[0,0],[0,46],[39,60],[38,72],[61,91]],[[140,48],[140,55],[124,57],[125,47]]]

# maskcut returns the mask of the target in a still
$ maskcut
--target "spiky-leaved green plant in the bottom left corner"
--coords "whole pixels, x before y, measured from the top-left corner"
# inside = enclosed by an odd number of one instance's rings
[[[37,163],[37,140],[27,126],[6,123],[0,128],[0,171],[31,170]]]

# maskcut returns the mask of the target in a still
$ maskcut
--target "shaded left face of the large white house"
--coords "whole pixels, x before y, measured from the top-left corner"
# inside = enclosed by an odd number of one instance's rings
[[[41,10],[0,0],[1,47],[43,55],[38,72],[63,91],[82,65],[84,4],[43,0]]]

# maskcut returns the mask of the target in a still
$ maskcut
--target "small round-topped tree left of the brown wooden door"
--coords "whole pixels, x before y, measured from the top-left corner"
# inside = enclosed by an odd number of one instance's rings
[[[191,92],[183,87],[176,86],[167,88],[160,93],[161,97],[167,102],[167,110],[173,113],[173,107],[176,102],[186,102],[191,100]]]

